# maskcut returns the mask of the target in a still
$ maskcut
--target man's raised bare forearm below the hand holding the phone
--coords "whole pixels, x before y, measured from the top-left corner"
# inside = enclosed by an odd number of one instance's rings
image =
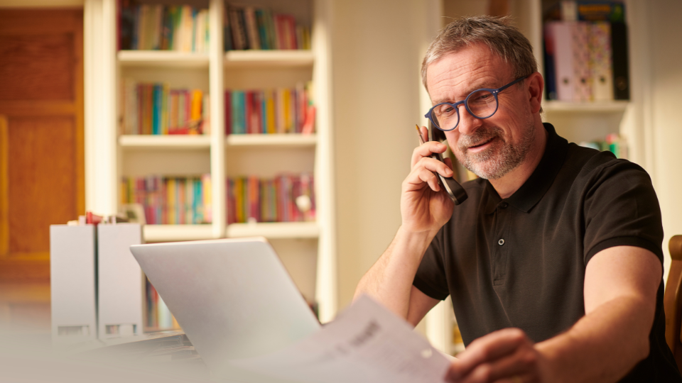
[[[355,289],[368,294],[402,318],[407,318],[414,276],[435,233],[411,233],[399,228],[395,238]]]

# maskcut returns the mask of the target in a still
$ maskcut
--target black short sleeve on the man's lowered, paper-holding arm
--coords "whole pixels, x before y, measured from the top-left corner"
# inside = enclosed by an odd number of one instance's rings
[[[595,167],[583,213],[585,265],[597,252],[622,245],[649,250],[663,262],[661,208],[649,174],[639,165],[611,160]]]

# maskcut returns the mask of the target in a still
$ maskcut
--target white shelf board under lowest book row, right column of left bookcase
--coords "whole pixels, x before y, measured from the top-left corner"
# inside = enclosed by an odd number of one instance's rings
[[[232,223],[227,226],[226,235],[227,238],[318,238],[320,227],[315,222]]]

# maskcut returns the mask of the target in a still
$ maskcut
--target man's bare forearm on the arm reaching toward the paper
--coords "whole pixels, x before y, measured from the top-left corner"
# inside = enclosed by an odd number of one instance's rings
[[[654,310],[647,306],[651,304],[635,296],[612,299],[569,331],[538,343],[536,348],[546,362],[544,380],[617,382],[649,355]]]

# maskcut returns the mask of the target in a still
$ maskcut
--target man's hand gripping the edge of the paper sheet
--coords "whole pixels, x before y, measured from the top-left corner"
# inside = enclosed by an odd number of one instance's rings
[[[539,383],[544,360],[519,328],[504,328],[474,340],[445,375],[454,383]]]

